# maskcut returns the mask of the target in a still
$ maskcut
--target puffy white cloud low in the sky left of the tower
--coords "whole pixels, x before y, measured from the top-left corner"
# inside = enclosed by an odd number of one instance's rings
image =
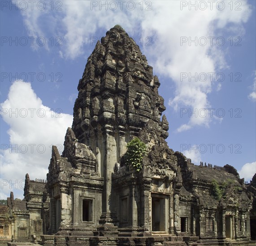
[[[10,127],[9,143],[1,143],[1,197],[9,196],[11,190],[21,197],[26,173],[32,179],[46,178],[51,146],[63,151],[65,132],[73,116],[51,111],[30,83],[15,81],[1,103],[1,117]]]

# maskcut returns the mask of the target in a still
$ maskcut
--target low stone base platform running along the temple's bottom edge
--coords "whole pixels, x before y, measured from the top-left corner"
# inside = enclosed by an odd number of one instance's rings
[[[256,241],[200,239],[199,237],[86,237],[42,235],[40,245],[48,246],[256,246]],[[8,246],[31,246],[39,243],[16,242]]]

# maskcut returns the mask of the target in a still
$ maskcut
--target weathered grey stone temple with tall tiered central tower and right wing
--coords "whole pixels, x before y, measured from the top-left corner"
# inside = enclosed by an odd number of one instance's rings
[[[230,165],[194,165],[170,149],[159,86],[121,26],[97,42],[62,155],[52,147],[39,243],[255,245],[256,176],[245,184]],[[146,144],[139,170],[124,157],[135,137]]]

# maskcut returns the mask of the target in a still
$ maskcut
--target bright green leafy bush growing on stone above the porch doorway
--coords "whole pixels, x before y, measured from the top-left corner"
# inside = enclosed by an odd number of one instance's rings
[[[132,166],[136,171],[142,168],[142,159],[146,153],[146,144],[144,144],[138,137],[133,138],[127,144],[127,151],[125,154],[126,165]]]

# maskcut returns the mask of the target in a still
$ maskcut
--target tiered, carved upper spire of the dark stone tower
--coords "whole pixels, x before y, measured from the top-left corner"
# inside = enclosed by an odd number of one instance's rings
[[[79,81],[72,126],[78,141],[93,145],[102,127],[123,131],[129,140],[149,119],[162,127],[166,138],[169,127],[165,117],[160,121],[165,106],[159,86],[139,46],[115,25],[97,42]]]

